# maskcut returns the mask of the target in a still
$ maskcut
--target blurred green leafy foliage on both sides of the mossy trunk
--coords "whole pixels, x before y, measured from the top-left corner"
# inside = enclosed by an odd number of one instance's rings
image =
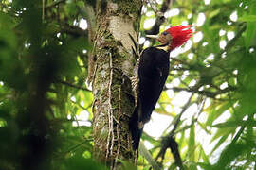
[[[43,2],[0,2],[0,169],[105,169],[92,161],[93,95],[84,83],[91,46],[81,25],[95,1]],[[157,43],[145,34],[161,7],[144,3],[141,48]],[[173,1],[170,7],[160,32],[181,24],[195,32],[171,54],[155,109],[173,120],[162,136],[175,137],[184,169],[255,168],[256,2]],[[143,141],[159,166],[176,168],[171,151],[158,155],[161,139],[146,129]],[[137,164],[152,166],[143,157]]]

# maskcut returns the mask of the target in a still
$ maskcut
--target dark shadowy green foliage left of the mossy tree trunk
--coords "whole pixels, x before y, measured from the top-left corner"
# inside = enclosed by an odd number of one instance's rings
[[[70,25],[78,5],[46,8],[43,17],[40,1],[1,2],[0,169],[102,169],[90,161],[90,46]]]

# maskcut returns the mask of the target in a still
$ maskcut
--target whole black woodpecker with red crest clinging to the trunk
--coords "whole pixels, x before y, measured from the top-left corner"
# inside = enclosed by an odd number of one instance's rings
[[[163,90],[170,67],[170,52],[192,37],[191,26],[172,26],[157,36],[160,45],[146,48],[138,61],[137,103],[129,122],[133,149],[138,150],[145,123]]]

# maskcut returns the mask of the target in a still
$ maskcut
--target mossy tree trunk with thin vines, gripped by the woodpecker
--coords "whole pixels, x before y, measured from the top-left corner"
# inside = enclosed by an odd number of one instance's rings
[[[128,123],[135,107],[130,78],[136,63],[141,0],[101,0],[97,3],[94,36],[93,112],[94,156],[111,169],[119,160],[136,161]]]

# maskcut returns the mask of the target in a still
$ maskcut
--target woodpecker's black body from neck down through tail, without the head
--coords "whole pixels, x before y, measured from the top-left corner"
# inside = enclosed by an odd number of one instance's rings
[[[138,63],[137,106],[130,120],[134,149],[137,150],[143,125],[150,120],[152,111],[169,74],[169,52],[149,47],[142,52]]]

